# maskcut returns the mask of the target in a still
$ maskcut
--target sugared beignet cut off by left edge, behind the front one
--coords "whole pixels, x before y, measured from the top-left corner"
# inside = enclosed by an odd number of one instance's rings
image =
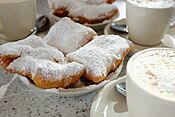
[[[6,68],[14,59],[37,47],[51,48],[40,37],[35,35],[17,42],[5,43],[0,46],[0,65]]]

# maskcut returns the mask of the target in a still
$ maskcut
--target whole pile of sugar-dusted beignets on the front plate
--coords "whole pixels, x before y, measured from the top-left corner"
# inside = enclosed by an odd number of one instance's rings
[[[92,29],[63,18],[44,40],[33,35],[1,45],[0,65],[45,89],[67,88],[80,78],[100,83],[122,63],[132,43],[116,35],[94,35]]]

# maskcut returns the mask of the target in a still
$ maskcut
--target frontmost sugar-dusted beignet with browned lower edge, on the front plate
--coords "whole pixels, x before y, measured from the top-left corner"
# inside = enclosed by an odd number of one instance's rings
[[[66,88],[78,81],[84,74],[84,67],[77,62],[58,64],[46,59],[24,56],[11,62],[7,71],[25,76],[36,86],[48,89]]]

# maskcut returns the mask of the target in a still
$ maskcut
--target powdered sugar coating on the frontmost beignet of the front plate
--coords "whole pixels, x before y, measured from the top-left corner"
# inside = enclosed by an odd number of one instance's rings
[[[14,60],[7,67],[7,70],[26,71],[35,77],[38,70],[42,73],[44,80],[55,81],[69,78],[79,72],[82,72],[83,65],[72,62],[68,64],[58,64],[46,59],[35,59],[31,56],[24,56]]]

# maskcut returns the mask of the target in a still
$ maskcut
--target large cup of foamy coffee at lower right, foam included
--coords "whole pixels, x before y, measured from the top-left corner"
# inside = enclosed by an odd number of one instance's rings
[[[175,116],[175,49],[151,48],[127,64],[129,117]]]

